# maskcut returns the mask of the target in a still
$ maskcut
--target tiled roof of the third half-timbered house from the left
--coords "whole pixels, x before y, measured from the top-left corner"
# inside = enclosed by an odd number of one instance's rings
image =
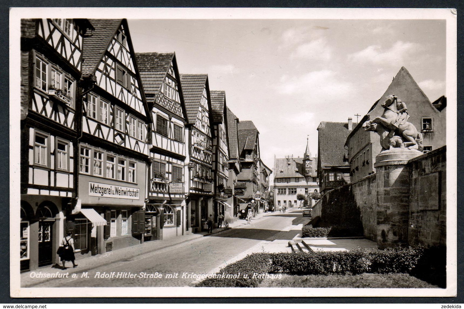
[[[136,52],[135,59],[146,96],[155,96],[169,70],[174,52]]]

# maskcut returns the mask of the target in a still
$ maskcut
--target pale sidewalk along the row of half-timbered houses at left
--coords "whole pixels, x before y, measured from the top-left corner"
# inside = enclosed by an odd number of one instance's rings
[[[252,218],[253,221],[260,220],[267,214],[272,214],[272,212],[265,212],[258,214],[255,218]],[[240,228],[246,224],[246,220],[244,219],[237,219],[234,223],[229,224],[229,229],[231,228]],[[46,281],[53,280],[57,275],[66,274],[68,273],[68,277],[71,274],[82,274],[83,272],[89,271],[91,269],[95,269],[97,267],[102,267],[108,264],[112,264],[121,260],[128,260],[143,254],[151,253],[154,251],[159,251],[161,249],[165,249],[174,245],[179,245],[182,243],[186,243],[189,241],[193,241],[195,239],[202,238],[203,236],[209,236],[212,234],[220,233],[226,230],[227,228],[215,228],[213,229],[213,233],[208,232],[199,232],[199,233],[192,233],[186,234],[183,236],[179,236],[176,238],[169,238],[167,240],[154,240],[154,241],[147,241],[143,244],[133,245],[130,247],[118,249],[115,251],[106,252],[104,254],[98,254],[95,256],[90,256],[87,258],[79,258],[76,259],[76,264],[78,266],[76,268],[72,268],[71,262],[66,262],[66,270],[61,269],[61,265],[47,265],[43,267],[39,267],[37,270],[31,270],[21,273],[21,287],[29,287],[32,285],[36,285],[39,283],[44,283]],[[71,267],[70,267],[71,266]],[[38,275],[40,276],[49,276],[48,278],[32,278],[31,275]],[[52,277],[53,276],[53,277]]]

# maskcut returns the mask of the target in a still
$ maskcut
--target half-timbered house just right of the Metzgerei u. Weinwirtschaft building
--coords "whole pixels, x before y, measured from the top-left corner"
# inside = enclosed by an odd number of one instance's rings
[[[153,119],[144,237],[167,239],[186,232],[187,112],[175,54],[135,56]]]

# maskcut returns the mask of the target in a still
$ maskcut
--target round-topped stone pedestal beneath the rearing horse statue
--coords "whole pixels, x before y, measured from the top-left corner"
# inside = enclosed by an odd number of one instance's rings
[[[419,155],[418,150],[393,148],[375,157],[380,249],[407,244],[410,171],[406,163]]]

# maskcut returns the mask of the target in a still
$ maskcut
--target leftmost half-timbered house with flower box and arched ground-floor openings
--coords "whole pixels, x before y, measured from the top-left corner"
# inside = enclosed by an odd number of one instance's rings
[[[92,30],[87,19],[21,20],[21,270],[59,262],[76,196],[82,43]]]

